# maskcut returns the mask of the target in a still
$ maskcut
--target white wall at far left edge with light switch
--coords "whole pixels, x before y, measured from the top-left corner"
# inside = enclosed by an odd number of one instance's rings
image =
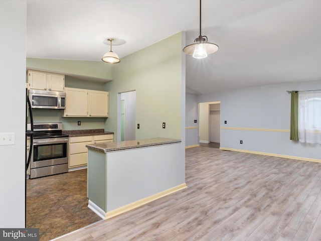
[[[16,144],[0,146],[0,227],[25,227],[26,1],[0,1],[0,133]]]

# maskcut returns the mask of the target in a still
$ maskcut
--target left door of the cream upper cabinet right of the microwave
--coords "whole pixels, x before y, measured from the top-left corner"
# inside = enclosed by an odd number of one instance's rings
[[[64,116],[88,115],[88,91],[86,89],[65,88],[66,108]]]

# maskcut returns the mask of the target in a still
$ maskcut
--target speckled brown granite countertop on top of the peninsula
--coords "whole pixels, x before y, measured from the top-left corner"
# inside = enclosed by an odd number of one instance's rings
[[[182,141],[177,139],[157,137],[157,138],[150,138],[150,139],[143,139],[143,140],[89,144],[89,145],[86,145],[86,147],[91,150],[107,153],[107,152],[116,152],[116,151],[123,151],[123,150],[135,149],[135,148],[175,144],[180,142]]]

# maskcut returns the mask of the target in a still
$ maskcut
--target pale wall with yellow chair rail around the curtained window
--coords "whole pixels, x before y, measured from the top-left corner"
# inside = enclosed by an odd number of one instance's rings
[[[321,161],[321,145],[289,140],[291,97],[286,90],[313,89],[321,89],[321,80],[202,94],[198,101],[221,101],[222,148]]]

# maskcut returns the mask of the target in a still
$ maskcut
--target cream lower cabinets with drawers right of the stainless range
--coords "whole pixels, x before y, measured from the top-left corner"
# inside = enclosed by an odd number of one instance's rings
[[[114,135],[69,137],[69,168],[86,166],[88,163],[87,144],[113,142]]]

